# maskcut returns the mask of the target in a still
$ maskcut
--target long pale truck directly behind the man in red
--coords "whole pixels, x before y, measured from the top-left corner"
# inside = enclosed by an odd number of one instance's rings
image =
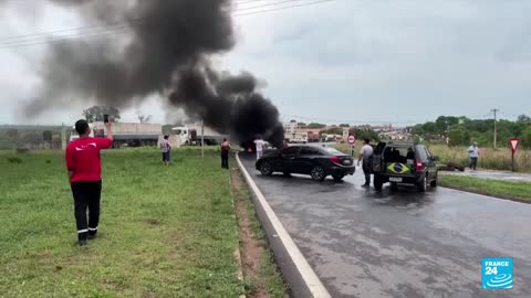
[[[107,129],[104,123],[88,124],[91,137],[105,137]],[[163,126],[159,124],[126,124],[113,123],[113,148],[157,146],[163,135]],[[75,127],[70,131],[70,141],[80,138]]]

